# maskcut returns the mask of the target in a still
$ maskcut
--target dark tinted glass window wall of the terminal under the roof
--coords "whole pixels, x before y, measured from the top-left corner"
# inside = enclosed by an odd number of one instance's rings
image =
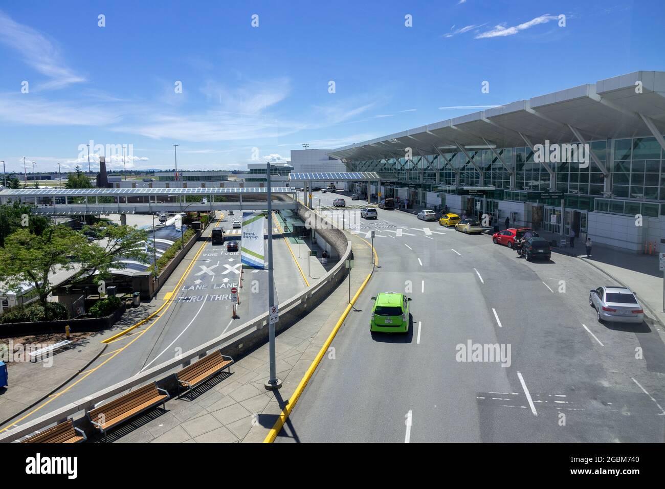
[[[653,136],[614,140],[593,140],[591,151],[611,174],[612,198],[616,202],[665,202],[665,152]],[[502,148],[496,152],[510,168],[515,168],[515,188],[510,189],[510,175],[495,153],[489,149],[467,150],[470,158],[457,150],[442,150],[441,154],[424,154],[411,160],[406,158],[382,158],[354,161],[348,164],[352,172],[377,172],[388,188],[415,186],[434,190],[455,185],[459,172],[460,186],[480,186],[483,174],[484,186],[505,190],[547,190],[555,188],[567,195],[566,206],[582,210],[618,212],[618,204],[594,205],[604,196],[604,176],[598,165],[589,158],[589,165],[580,168],[579,163],[558,162],[551,164],[555,182],[541,163],[533,159],[528,147]],[[612,158],[613,156],[613,158]],[[477,168],[480,170],[477,169]],[[605,197],[607,197],[605,195]],[[505,200],[525,201],[521,192],[505,192]],[[607,200],[607,199],[605,199]],[[660,202],[659,202],[660,201]],[[622,204],[620,214],[628,206],[630,214],[639,204]],[[644,216],[653,214],[650,206]],[[658,216],[658,205],[656,216]]]

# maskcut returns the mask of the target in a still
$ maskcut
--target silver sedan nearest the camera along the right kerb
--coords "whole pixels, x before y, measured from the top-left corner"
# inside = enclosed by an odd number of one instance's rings
[[[642,323],[644,309],[626,287],[598,287],[589,291],[589,305],[596,309],[599,322]]]

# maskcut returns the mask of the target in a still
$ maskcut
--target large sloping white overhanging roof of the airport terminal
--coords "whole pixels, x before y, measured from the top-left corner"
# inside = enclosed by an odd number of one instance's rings
[[[652,134],[665,149],[665,72],[636,71],[336,148],[342,161]],[[592,156],[593,158],[593,156]],[[598,164],[598,162],[596,162]]]

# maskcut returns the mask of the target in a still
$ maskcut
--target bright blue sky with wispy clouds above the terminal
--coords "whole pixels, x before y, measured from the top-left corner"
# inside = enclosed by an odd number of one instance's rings
[[[0,160],[87,168],[90,140],[132,145],[128,168],[173,168],[173,144],[182,169],[287,160],[665,70],[664,14],[656,0],[3,1]]]

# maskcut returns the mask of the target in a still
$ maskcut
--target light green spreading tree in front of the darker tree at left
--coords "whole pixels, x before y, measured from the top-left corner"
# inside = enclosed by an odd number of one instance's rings
[[[21,284],[30,283],[39,295],[39,302],[47,310],[49,294],[55,290],[49,275],[67,270],[74,273],[71,282],[110,276],[110,270],[118,267],[120,257],[148,262],[147,232],[131,226],[102,226],[86,228],[97,236],[106,238],[106,245],[89,242],[81,232],[66,226],[49,226],[41,236],[20,229],[5,240],[0,248],[0,281],[11,291],[19,291]]]

